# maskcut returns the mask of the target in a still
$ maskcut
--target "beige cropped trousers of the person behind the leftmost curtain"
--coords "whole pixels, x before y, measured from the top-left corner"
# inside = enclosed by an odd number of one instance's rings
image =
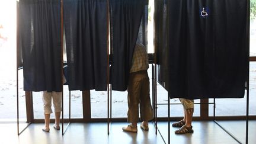
[[[55,113],[62,111],[62,92],[47,92],[43,91],[43,107],[44,114],[51,114],[52,112],[52,99]]]

